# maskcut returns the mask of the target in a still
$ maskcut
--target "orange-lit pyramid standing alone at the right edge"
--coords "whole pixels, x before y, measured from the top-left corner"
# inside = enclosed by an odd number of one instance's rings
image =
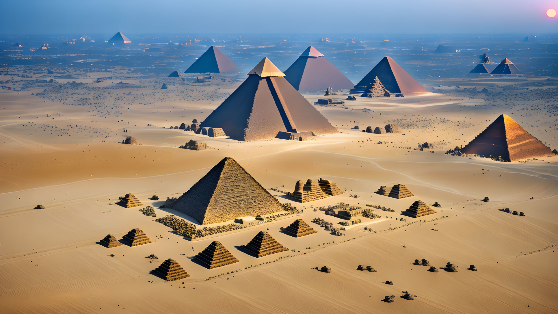
[[[502,114],[463,147],[461,153],[484,157],[500,156],[506,161],[516,161],[547,156],[552,152],[512,118]]]

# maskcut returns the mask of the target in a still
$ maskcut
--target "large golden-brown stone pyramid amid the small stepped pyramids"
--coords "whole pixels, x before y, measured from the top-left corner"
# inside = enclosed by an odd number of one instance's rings
[[[284,211],[281,203],[230,157],[211,168],[172,209],[204,225]]]

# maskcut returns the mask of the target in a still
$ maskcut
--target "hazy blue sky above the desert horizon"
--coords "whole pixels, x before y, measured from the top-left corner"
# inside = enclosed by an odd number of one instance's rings
[[[558,0],[0,0],[0,33],[558,33]]]

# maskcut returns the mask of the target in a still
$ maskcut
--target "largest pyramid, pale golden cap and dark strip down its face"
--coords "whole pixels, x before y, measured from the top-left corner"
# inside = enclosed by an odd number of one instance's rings
[[[238,141],[274,138],[279,132],[337,133],[283,76],[265,57],[200,126],[222,128]]]

